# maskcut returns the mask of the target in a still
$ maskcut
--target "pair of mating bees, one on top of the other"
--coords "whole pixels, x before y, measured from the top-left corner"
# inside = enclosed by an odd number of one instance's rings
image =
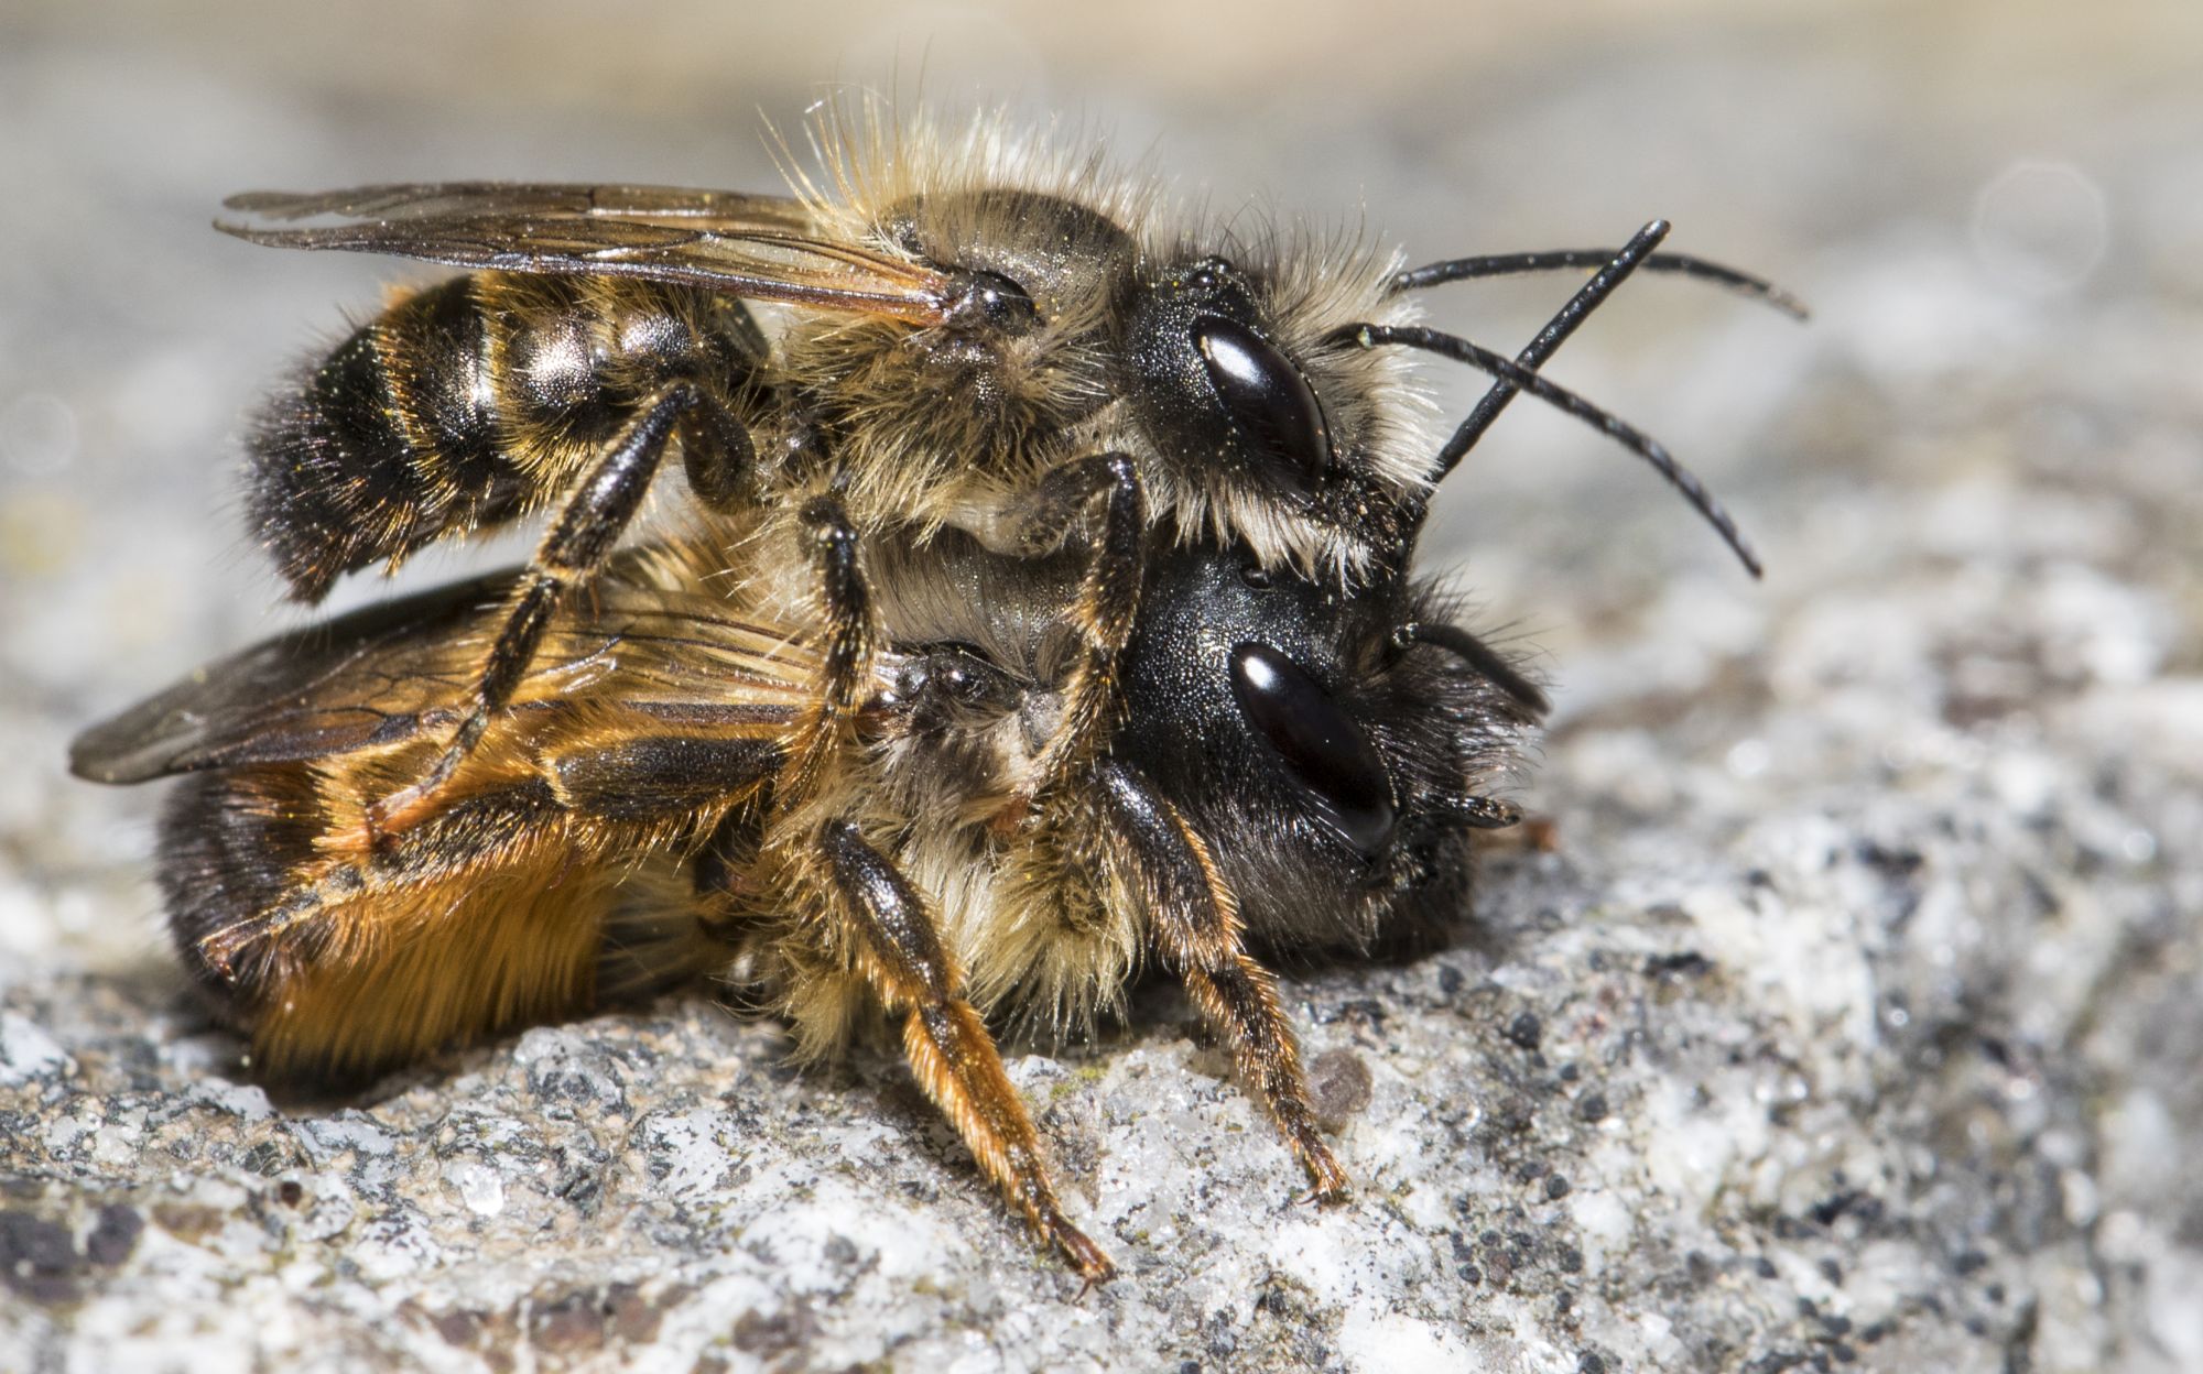
[[[1082,1028],[1185,980],[1313,1193],[1256,949],[1467,905],[1544,696],[1410,575],[1428,495],[1654,253],[1390,271],[1201,242],[1090,163],[905,134],[835,194],[251,194],[253,242],[469,269],[267,412],[249,513],[293,592],[549,509],[518,575],[271,641],[88,731],[189,775],[161,881],[258,1072],[333,1083],[725,971],[826,1053],[879,1015],[1086,1279],[987,1015]],[[1458,277],[1597,269],[1516,359],[1412,321]],[[764,304],[767,321],[749,304]],[[1428,451],[1410,348],[1496,377]],[[687,528],[623,542],[679,449]]]

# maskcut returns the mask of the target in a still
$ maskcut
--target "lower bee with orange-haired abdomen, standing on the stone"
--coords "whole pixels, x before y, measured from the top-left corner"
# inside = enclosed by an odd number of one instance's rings
[[[1458,912],[1469,828],[1509,819],[1487,790],[1533,689],[1485,676],[1458,632],[1414,632],[1443,612],[1406,579],[1342,597],[1249,581],[1245,548],[1159,542],[1128,716],[1049,764],[1082,729],[1064,713],[1077,559],[952,535],[883,553],[875,588],[853,526],[809,520],[822,623],[857,634],[698,592],[725,526],[637,546],[551,617],[436,810],[381,843],[366,806],[436,749],[511,575],[247,650],[88,731],[86,777],[187,775],[161,883],[253,1070],[341,1086],[727,971],[806,1055],[894,1017],[980,1167],[1099,1282],[1110,1260],[1064,1215],[987,1019],[1082,1030],[1152,960],[1313,1196],[1342,1198],[1251,949]],[[1033,786],[1046,766],[1062,788]]]

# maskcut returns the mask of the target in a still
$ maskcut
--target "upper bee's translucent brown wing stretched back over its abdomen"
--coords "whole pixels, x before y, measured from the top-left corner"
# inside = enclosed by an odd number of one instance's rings
[[[749,299],[947,317],[949,277],[828,233],[791,196],[679,187],[447,181],[245,192],[223,233],[278,249],[392,253],[449,266],[648,277]]]

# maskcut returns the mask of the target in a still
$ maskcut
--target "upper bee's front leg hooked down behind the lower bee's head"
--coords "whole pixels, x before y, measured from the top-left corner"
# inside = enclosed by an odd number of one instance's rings
[[[1117,661],[1139,614],[1146,506],[1132,458],[1088,454],[1042,478],[1011,513],[1020,522],[1018,539],[1031,553],[1053,548],[1082,520],[1093,522],[1086,575],[1071,603],[1084,654],[1064,683],[1062,722],[1033,760],[1029,795],[1060,790],[1077,777],[1119,709]]]

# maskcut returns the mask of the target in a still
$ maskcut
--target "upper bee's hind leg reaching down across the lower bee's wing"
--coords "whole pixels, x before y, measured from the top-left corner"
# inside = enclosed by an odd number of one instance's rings
[[[465,720],[458,722],[452,742],[419,782],[368,808],[370,835],[388,837],[405,830],[434,810],[436,793],[474,751],[482,731],[489,729],[491,716],[511,700],[566,590],[604,566],[619,535],[634,520],[634,511],[643,504],[643,495],[659,473],[659,462],[665,458],[665,443],[676,429],[690,438],[707,434],[709,440],[729,449],[727,456],[707,460],[696,456],[696,449],[705,445],[683,445],[690,451],[690,478],[696,480],[703,473],[701,489],[707,495],[734,491],[734,480],[725,471],[749,467],[749,436],[742,427],[725,416],[694,381],[676,381],[659,392],[566,498],[520,577],[520,590],[504,614],[504,628],[498,630],[498,639],[482,661],[482,674],[474,683],[474,700]]]

